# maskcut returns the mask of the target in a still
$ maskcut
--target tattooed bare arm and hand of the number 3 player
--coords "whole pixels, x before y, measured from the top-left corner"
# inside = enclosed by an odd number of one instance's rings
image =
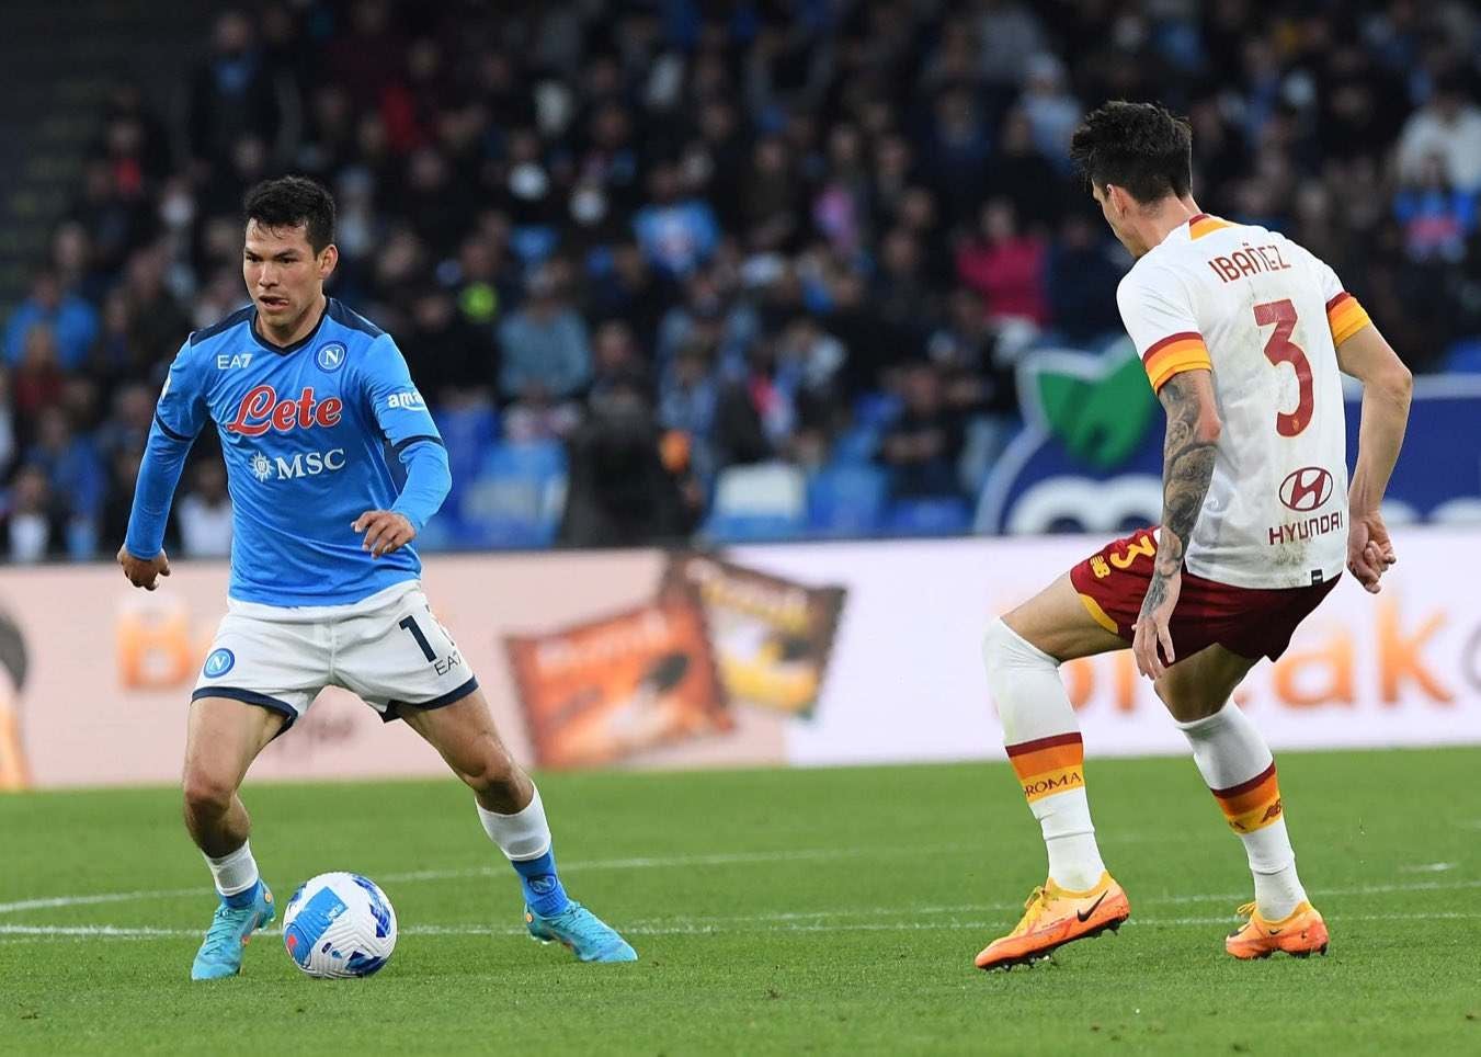
[[[1157,545],[1157,567],[1142,600],[1131,651],[1136,666],[1148,678],[1166,669],[1158,657],[1161,644],[1167,663],[1176,660],[1173,638],[1167,631],[1177,595],[1182,591],[1183,554],[1203,509],[1219,444],[1219,412],[1213,397],[1213,375],[1188,370],[1173,375],[1158,391],[1167,412],[1167,440],[1163,444],[1163,530]]]

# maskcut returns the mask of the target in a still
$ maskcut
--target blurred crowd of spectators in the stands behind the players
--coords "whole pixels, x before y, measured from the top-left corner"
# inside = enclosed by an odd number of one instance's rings
[[[450,432],[560,446],[575,545],[683,536],[752,463],[969,508],[1016,358],[1120,332],[1130,261],[1066,160],[1108,98],[1186,113],[1200,206],[1328,261],[1416,370],[1475,369],[1477,56],[1477,12],[1444,0],[224,13],[181,114],[117,86],[4,320],[0,552],[118,545],[163,369],[244,303],[241,194],[283,172],[336,194],[332,293],[481,423]],[[213,444],[176,503],[187,555],[230,546]]]

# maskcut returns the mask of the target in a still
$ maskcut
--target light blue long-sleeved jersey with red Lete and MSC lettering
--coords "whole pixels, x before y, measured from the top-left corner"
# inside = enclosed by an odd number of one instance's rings
[[[231,490],[233,598],[342,605],[421,576],[410,546],[372,558],[351,523],[403,514],[421,531],[447,494],[447,456],[390,335],[327,299],[289,348],[243,308],[190,336],[170,366],[139,469],[126,546],[160,551],[195,435],[213,422]],[[387,453],[406,466],[398,490]]]

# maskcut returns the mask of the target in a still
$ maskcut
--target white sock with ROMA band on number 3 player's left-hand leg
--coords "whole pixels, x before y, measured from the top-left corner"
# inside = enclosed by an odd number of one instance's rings
[[[1049,851],[1049,876],[1069,891],[1105,873],[1086,796],[1080,722],[1059,680],[1059,662],[994,620],[982,642],[1003,742]]]

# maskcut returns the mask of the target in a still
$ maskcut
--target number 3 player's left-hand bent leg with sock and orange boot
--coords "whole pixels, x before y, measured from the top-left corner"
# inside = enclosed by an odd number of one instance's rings
[[[1059,665],[1127,642],[1087,607],[1069,576],[994,620],[983,638],[988,688],[1003,742],[1049,853],[1049,881],[1009,936],[977,955],[979,968],[1043,958],[1071,940],[1117,928],[1130,913],[1106,872],[1086,795],[1084,745]]]

